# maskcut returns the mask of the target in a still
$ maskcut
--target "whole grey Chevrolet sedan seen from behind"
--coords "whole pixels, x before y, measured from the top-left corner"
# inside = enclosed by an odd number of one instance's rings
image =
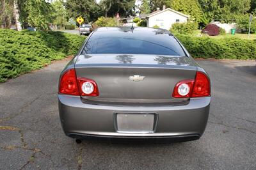
[[[88,137],[191,141],[211,102],[205,70],[165,29],[101,27],[60,75],[61,125]]]

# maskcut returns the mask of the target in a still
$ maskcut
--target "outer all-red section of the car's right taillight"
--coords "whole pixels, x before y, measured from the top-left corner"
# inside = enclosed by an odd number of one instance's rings
[[[209,97],[211,96],[210,81],[203,72],[196,72],[195,83],[191,97]]]

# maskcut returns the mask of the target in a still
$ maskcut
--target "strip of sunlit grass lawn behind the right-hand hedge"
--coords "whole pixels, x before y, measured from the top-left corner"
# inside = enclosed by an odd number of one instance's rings
[[[201,35],[201,30],[196,30],[194,31],[195,36]],[[209,35],[204,35],[202,36],[209,36]],[[209,36],[210,38],[231,38],[231,37],[236,37],[236,38],[242,38],[248,40],[248,34],[242,34],[242,33],[236,33],[236,35],[231,35],[230,33],[227,33],[226,35],[218,35],[218,36]],[[255,40],[256,39],[256,34],[251,34],[250,35],[250,40]]]

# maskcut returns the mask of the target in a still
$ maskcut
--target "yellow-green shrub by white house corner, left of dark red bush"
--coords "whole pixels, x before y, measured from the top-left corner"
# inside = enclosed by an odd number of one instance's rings
[[[172,24],[172,27],[170,28],[170,31],[173,34],[192,34],[193,31],[195,31],[198,28],[198,24],[195,22],[186,22],[186,23],[175,23]]]

